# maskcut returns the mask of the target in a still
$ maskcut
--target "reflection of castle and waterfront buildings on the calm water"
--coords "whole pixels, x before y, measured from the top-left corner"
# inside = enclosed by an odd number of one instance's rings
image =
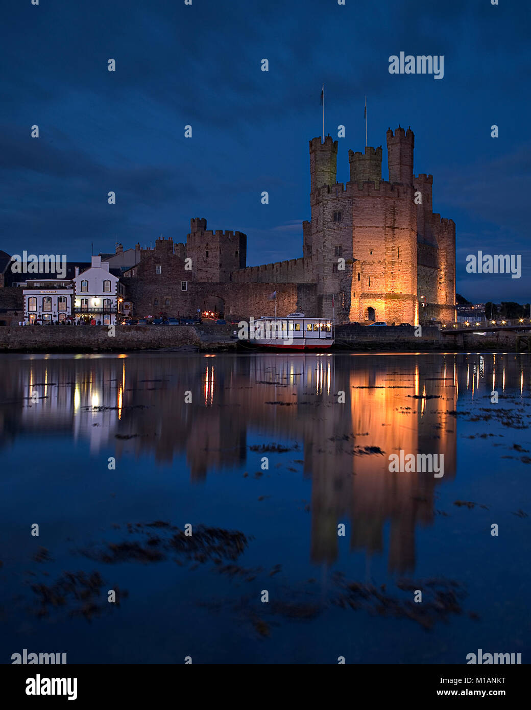
[[[0,443],[67,435],[94,456],[185,457],[194,482],[259,469],[251,435],[298,444],[280,460],[302,459],[312,483],[312,560],[336,559],[341,521],[352,550],[381,552],[388,523],[388,566],[401,573],[415,566],[415,528],[432,522],[436,487],[455,475],[458,397],[503,391],[506,370],[523,393],[512,355],[6,356]],[[400,450],[444,454],[444,477],[390,473]]]

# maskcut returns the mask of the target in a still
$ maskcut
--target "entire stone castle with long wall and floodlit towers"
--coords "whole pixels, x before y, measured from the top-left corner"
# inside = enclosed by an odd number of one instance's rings
[[[455,320],[455,224],[432,212],[432,175],[413,174],[411,129],[382,148],[349,151],[350,180],[336,182],[337,141],[310,141],[311,220],[302,257],[246,266],[246,235],[191,220],[186,244],[158,239],[124,273],[136,315],[215,309],[259,317],[302,310],[338,322]],[[333,304],[333,305],[332,305]]]

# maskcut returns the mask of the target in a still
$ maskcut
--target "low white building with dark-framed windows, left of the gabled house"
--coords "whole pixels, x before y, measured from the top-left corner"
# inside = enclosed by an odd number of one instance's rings
[[[74,289],[68,280],[28,280],[23,290],[26,325],[72,322]]]

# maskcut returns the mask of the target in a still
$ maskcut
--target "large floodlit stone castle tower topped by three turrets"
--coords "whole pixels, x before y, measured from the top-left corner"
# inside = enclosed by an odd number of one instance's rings
[[[310,206],[305,261],[317,285],[317,310],[339,320],[454,320],[455,224],[432,213],[432,175],[413,175],[415,136],[387,132],[382,148],[349,151],[350,181],[336,182],[337,141],[310,141]],[[416,204],[419,203],[419,204]],[[419,305],[419,302],[421,305]]]

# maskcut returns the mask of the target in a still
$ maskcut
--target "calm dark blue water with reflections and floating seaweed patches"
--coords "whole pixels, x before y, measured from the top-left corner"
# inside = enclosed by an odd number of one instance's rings
[[[528,356],[0,363],[0,662],[528,662]]]

